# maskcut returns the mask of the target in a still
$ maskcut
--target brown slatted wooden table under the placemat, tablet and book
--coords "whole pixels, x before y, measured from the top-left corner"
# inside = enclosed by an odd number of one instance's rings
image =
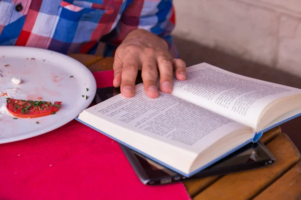
[[[92,72],[112,70],[113,58],[70,54]],[[301,136],[301,135],[300,135]],[[273,153],[270,166],[228,175],[218,175],[184,183],[194,200],[198,199],[301,199],[300,153],[280,127],[260,139]]]

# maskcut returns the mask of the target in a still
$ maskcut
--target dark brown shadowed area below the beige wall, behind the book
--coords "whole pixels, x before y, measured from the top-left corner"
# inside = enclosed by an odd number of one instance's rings
[[[174,42],[187,66],[207,62],[241,75],[301,88],[301,77],[266,65],[247,61],[177,36],[174,36]],[[285,132],[297,148],[301,150],[301,136],[299,135],[301,131],[301,116],[280,125],[280,127],[282,132]]]

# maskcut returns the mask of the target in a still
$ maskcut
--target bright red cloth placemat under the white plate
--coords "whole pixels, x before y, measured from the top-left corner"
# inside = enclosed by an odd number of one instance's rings
[[[111,86],[112,71],[94,73]],[[143,185],[117,142],[72,120],[0,144],[0,199],[190,199],[182,183]]]

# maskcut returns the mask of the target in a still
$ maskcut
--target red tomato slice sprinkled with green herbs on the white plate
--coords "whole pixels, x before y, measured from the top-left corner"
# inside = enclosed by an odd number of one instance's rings
[[[22,100],[7,98],[7,108],[11,114],[21,118],[35,118],[55,114],[61,107],[61,101],[54,104],[41,100]]]

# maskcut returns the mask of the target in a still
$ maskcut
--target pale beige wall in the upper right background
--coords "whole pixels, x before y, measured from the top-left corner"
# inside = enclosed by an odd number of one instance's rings
[[[174,0],[174,4],[174,35],[301,77],[301,0]]]

